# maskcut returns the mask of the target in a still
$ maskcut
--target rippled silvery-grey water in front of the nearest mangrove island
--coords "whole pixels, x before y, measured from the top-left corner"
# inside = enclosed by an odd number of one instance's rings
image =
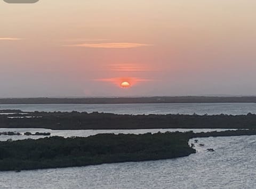
[[[0,188],[255,188],[256,136],[198,140],[178,159],[0,172]]]

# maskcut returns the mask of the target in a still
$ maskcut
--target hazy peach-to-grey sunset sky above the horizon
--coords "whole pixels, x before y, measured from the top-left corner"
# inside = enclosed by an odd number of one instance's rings
[[[254,95],[255,7],[0,0],[0,97]]]

